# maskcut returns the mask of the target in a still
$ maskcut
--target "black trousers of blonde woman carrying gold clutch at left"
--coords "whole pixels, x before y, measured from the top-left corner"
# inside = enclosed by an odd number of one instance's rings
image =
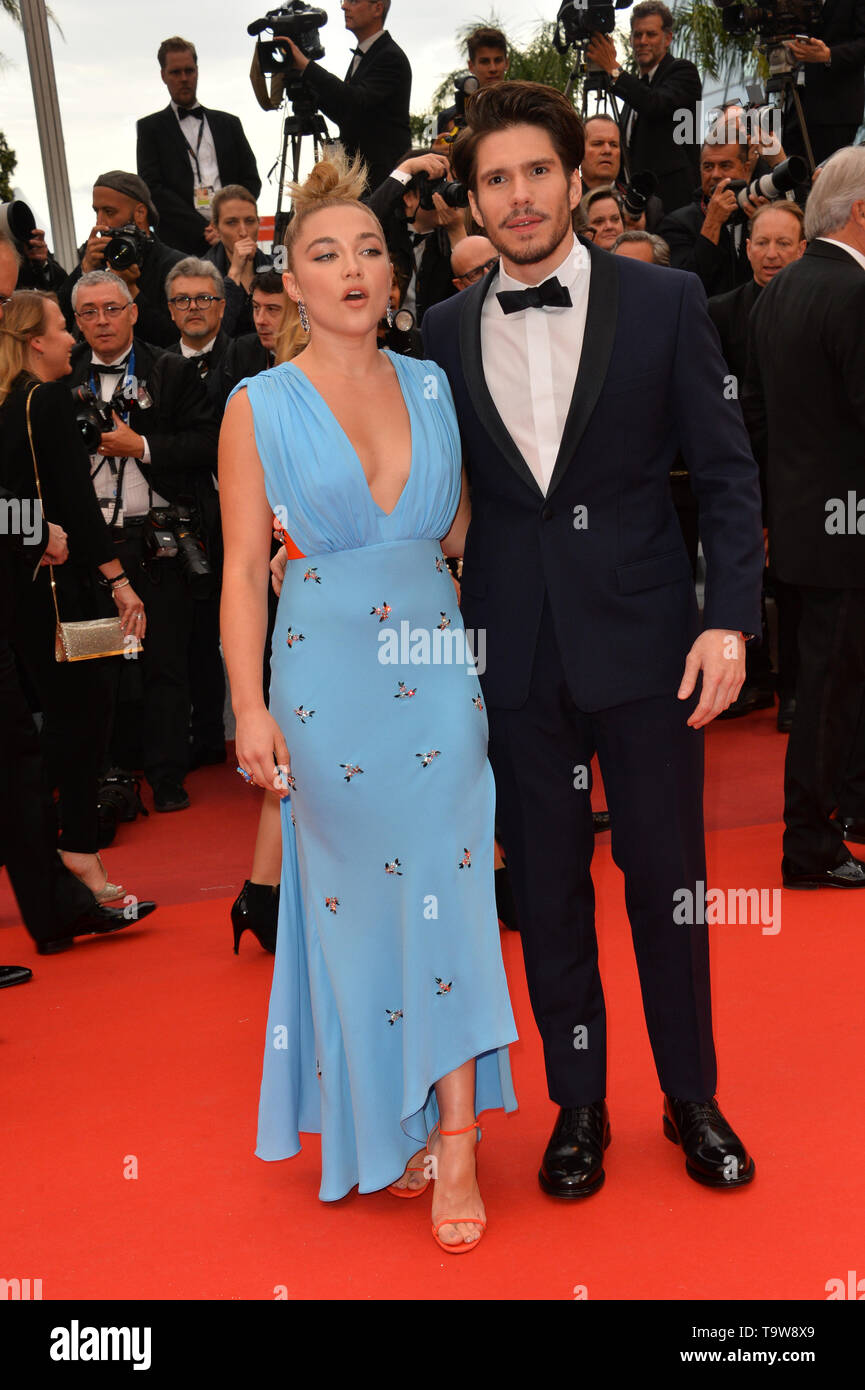
[[[28,591],[18,605],[14,651],[43,716],[42,758],[49,785],[60,794],[60,848],[92,855],[99,849],[97,788],[111,727],[113,667],[120,657],[57,662],[47,574],[39,581],[40,588]],[[63,596],[60,605],[65,619]]]

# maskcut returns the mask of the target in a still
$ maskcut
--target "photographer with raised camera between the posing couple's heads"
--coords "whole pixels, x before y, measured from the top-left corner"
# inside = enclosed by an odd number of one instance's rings
[[[414,314],[417,325],[431,304],[455,293],[451,252],[466,236],[463,207],[448,207],[439,192],[428,199],[431,208],[420,206],[426,182],[439,179],[452,181],[444,154],[412,153],[367,199],[389,252],[407,267],[403,309]]]

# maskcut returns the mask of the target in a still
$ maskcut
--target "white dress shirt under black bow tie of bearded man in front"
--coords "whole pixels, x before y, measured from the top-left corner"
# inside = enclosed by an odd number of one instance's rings
[[[585,334],[591,265],[576,236],[566,260],[552,274],[570,291],[570,307],[544,306],[506,314],[496,292],[527,286],[499,265],[481,310],[481,361],[490,395],[544,495],[559,453]]]

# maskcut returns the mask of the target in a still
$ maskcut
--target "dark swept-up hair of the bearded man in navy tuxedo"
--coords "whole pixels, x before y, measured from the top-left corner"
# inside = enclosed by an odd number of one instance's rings
[[[477,147],[485,135],[512,125],[537,125],[549,135],[566,175],[580,168],[585,153],[583,121],[555,88],[540,82],[496,82],[476,92],[466,107],[466,128],[451,150],[451,168],[477,193]]]

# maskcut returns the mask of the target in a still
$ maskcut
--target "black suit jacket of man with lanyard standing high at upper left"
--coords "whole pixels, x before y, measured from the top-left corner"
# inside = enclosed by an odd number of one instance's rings
[[[210,107],[204,107],[204,114],[213,135],[223,188],[241,183],[257,197],[261,179],[239,118],[228,111],[211,111]],[[197,121],[188,118],[185,125],[197,128]],[[196,213],[193,206],[195,174],[188,149],[189,131],[184,135],[171,103],[153,115],[142,117],[136,129],[135,163],[156,203],[160,235],[186,256],[202,256],[207,250],[207,218]]]

